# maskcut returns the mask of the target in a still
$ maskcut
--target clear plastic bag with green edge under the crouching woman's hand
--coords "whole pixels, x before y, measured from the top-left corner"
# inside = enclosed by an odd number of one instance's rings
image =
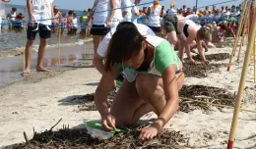
[[[112,137],[115,133],[126,132],[126,130],[116,128],[115,130],[111,130],[110,132],[106,132],[102,130],[102,125],[92,122],[86,122],[87,130],[91,134],[92,137],[98,139],[108,139]]]

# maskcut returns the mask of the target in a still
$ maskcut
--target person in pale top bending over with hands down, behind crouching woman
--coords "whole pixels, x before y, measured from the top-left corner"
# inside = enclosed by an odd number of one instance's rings
[[[202,47],[205,40],[211,37],[211,28],[208,26],[197,25],[191,20],[186,20],[182,16],[167,16],[164,20],[164,29],[167,33],[170,44],[174,47],[179,40],[179,58],[184,63],[184,52],[191,63],[196,63],[190,53],[190,44],[196,40],[197,48],[202,59],[202,64],[208,63],[205,58],[205,51]]]

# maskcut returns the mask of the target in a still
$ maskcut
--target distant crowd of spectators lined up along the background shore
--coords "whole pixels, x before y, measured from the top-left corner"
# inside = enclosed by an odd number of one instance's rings
[[[126,0],[122,0],[122,6],[129,7]],[[67,30],[68,34],[73,35],[77,34],[77,31],[80,30],[81,35],[91,37],[90,30],[94,17],[89,20],[89,16],[93,14],[92,9],[84,10],[83,14],[79,14],[79,16],[75,11],[59,11],[57,6],[54,6],[53,11],[54,17],[52,19],[52,25],[50,25],[52,32],[56,32],[59,28],[61,33]],[[207,6],[205,9],[197,10],[196,6],[188,8],[186,5],[183,5],[182,8],[175,8],[175,3],[171,3],[167,10],[165,10],[164,6],[161,6],[160,21],[166,16],[182,15],[186,19],[192,20],[199,25],[221,25],[221,23],[225,23],[227,27],[231,27],[235,32],[240,14],[241,7],[234,5],[231,7],[222,6],[221,8],[217,8],[216,5],[213,5],[212,9]],[[138,10],[137,17],[134,19],[131,18],[132,16],[129,16],[127,8],[122,9],[122,15],[123,21],[130,19],[131,21],[133,20],[133,23],[149,24],[149,7],[143,7],[142,10]],[[17,13],[17,8],[12,8],[12,11],[8,13],[6,19],[8,20],[10,29],[23,29],[25,26],[23,24],[25,22],[25,15],[22,12]]]

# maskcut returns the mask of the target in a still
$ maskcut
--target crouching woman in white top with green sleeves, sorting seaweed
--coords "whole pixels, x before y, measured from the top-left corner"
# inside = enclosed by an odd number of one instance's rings
[[[125,79],[108,111],[110,82],[120,69]],[[184,83],[182,63],[169,42],[158,36],[144,37],[136,28],[120,28],[108,45],[105,71],[95,96],[103,129],[133,125],[155,112],[158,119],[139,136],[142,141],[154,138],[178,110],[178,91]]]

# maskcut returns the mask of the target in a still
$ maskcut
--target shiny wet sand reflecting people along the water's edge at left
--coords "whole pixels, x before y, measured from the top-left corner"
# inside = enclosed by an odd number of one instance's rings
[[[60,53],[57,48],[51,47],[46,50],[43,66],[51,70],[63,70],[65,66],[81,59],[93,58],[93,45],[74,45],[61,47]],[[32,74],[35,72],[37,52],[32,53]],[[24,55],[0,59],[0,87],[22,81],[25,77],[21,75],[24,69]]]

